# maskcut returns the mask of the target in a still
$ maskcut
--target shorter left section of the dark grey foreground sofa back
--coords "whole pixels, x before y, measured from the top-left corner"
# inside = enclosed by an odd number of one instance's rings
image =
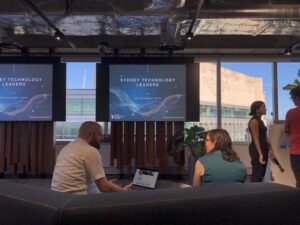
[[[55,225],[74,196],[0,180],[0,225]]]

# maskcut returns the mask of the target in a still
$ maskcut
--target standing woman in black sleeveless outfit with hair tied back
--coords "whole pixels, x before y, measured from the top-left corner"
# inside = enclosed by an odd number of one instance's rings
[[[275,159],[267,128],[261,120],[261,116],[266,115],[266,111],[266,105],[262,101],[255,101],[251,104],[249,115],[252,117],[248,124],[252,139],[249,145],[252,165],[251,182],[262,182],[269,156],[272,160]]]

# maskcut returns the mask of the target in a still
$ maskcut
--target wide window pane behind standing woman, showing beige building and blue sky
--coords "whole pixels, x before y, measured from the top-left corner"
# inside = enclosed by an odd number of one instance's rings
[[[221,68],[222,128],[233,141],[249,141],[247,132],[250,105],[264,101],[266,124],[273,122],[272,63],[222,63]]]

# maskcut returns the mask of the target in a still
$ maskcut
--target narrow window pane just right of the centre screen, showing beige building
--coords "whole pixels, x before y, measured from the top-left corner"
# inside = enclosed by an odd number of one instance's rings
[[[217,127],[217,69],[216,63],[199,63],[200,122],[185,123],[189,128],[199,125],[205,130]]]

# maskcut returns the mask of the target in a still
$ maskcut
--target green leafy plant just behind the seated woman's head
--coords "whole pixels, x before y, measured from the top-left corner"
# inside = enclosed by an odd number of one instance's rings
[[[192,182],[194,176],[196,160],[205,154],[205,137],[206,132],[204,128],[197,125],[185,128],[172,137],[172,154],[175,157],[175,161],[178,152],[185,149],[190,151],[190,156],[188,157],[188,177],[190,182]]]

